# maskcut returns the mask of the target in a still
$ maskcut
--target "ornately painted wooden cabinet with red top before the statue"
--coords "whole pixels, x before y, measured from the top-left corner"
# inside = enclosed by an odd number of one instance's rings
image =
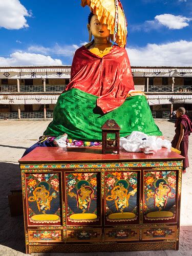
[[[26,252],[177,250],[182,159],[36,148],[19,160]]]

